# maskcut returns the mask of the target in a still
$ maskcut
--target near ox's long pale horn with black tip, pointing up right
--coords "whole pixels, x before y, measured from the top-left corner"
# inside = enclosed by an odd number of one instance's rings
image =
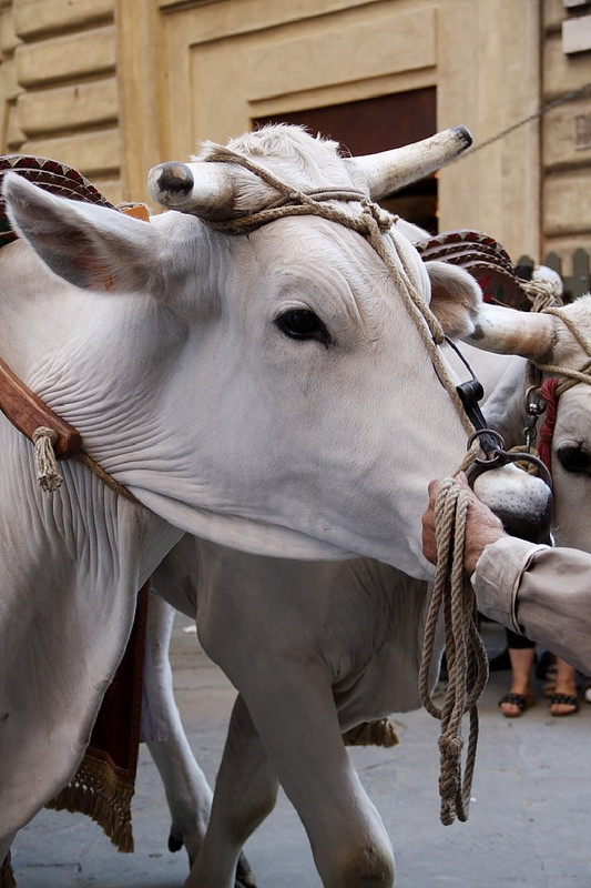
[[[445,167],[471,144],[470,131],[466,127],[454,127],[410,145],[346,158],[346,163],[365,175],[370,196],[379,200]]]

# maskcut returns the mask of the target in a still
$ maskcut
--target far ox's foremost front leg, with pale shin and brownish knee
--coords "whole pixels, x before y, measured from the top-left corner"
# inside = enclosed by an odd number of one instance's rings
[[[285,665],[274,663],[273,674],[243,674],[241,690],[304,824],[323,885],[391,888],[391,844],[344,746],[329,677],[319,664],[292,659]],[[244,787],[251,791],[248,784]],[[255,794],[253,805],[257,800]],[[201,882],[188,885],[202,888]]]

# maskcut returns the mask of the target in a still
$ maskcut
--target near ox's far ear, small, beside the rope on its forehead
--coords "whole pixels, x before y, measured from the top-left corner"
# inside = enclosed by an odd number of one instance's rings
[[[475,331],[482,291],[471,274],[449,262],[426,262],[431,282],[431,311],[446,335],[465,339]]]

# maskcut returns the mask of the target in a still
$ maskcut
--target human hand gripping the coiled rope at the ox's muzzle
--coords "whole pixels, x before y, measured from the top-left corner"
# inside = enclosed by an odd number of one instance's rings
[[[473,493],[468,478],[463,472],[456,475],[456,482],[470,494],[468,513],[466,516],[466,539],[463,551],[463,569],[467,576],[471,576],[476,569],[476,563],[486,546],[496,543],[502,536],[507,536],[500,519],[490,508],[485,505]],[[429,484],[429,505],[422,516],[422,554],[431,562],[437,564],[437,541],[435,533],[435,502],[441,488],[440,480],[431,481]]]

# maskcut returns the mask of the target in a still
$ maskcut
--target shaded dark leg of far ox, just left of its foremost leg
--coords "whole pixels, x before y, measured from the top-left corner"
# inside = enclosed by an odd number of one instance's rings
[[[241,696],[236,698],[201,852],[185,888],[255,886],[242,847],[275,807],[278,783]],[[234,877],[236,874],[236,882]]]

